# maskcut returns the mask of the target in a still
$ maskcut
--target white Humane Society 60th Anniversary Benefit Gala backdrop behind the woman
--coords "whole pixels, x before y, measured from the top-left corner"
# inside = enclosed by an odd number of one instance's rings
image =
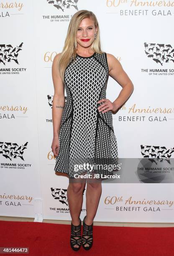
[[[51,66],[78,10],[95,13],[102,50],[120,61],[134,85],[131,97],[113,114],[113,126],[118,157],[139,163],[137,168],[131,161],[127,164],[122,182],[102,183],[95,221],[172,223],[174,2],[170,0],[0,1],[0,215],[71,220],[69,179],[54,172],[51,151]],[[121,89],[109,77],[107,98],[114,101]],[[85,193],[86,188],[82,218]]]

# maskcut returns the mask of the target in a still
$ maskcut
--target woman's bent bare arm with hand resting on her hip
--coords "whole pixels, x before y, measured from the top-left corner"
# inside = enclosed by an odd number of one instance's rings
[[[112,54],[107,54],[107,64],[110,77],[113,77],[122,87],[118,97],[111,102],[108,99],[101,99],[97,103],[104,102],[98,107],[98,110],[105,113],[109,110],[115,112],[128,99],[133,92],[133,83],[124,71],[120,61]]]

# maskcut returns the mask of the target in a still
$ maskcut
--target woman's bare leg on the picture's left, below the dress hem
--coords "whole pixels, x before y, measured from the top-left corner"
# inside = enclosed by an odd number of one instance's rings
[[[83,203],[83,189],[85,183],[69,183],[67,188],[67,198],[69,211],[72,218],[72,224],[79,225],[79,216],[82,209]],[[74,237],[77,239],[77,237]],[[74,247],[79,247],[77,244]]]

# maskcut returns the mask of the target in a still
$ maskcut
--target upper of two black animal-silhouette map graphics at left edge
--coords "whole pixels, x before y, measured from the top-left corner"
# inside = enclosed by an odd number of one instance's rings
[[[19,65],[18,62],[18,52],[22,51],[23,42],[19,46],[13,47],[11,44],[0,44],[0,64],[5,64],[7,62],[13,61]]]

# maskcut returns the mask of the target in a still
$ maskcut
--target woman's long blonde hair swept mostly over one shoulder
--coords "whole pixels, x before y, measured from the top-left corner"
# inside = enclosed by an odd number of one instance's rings
[[[74,56],[74,60],[75,60],[76,49],[77,49],[77,39],[76,39],[77,30],[81,20],[84,18],[92,18],[95,24],[95,28],[98,27],[97,36],[91,45],[91,49],[96,53],[99,53],[99,54],[103,53],[100,45],[100,28],[99,28],[99,24],[95,14],[88,10],[79,10],[77,13],[74,13],[69,23],[67,36],[65,38],[64,48],[63,48],[63,51],[61,52],[61,56],[58,64],[59,74],[63,82],[64,82],[64,72],[67,67],[67,64],[69,63],[69,60],[72,58],[72,56]]]

